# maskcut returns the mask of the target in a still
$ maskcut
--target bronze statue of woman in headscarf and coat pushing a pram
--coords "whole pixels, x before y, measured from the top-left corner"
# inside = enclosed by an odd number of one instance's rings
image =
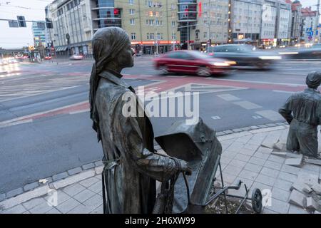
[[[153,127],[121,70],[133,66],[128,34],[118,27],[100,28],[92,40],[95,63],[90,79],[93,129],[103,147],[104,213],[151,213],[156,180],[190,172],[187,162],[154,152]],[[123,115],[124,94],[136,100],[137,115]]]

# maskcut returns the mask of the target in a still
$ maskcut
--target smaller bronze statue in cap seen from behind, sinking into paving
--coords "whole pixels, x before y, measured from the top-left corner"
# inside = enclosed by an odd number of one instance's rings
[[[298,151],[310,157],[317,154],[317,126],[321,123],[321,72],[307,75],[307,89],[290,96],[279,113],[290,124],[287,135],[287,150]]]

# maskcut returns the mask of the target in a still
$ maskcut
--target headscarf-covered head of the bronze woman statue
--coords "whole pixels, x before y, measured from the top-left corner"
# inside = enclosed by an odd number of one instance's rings
[[[131,40],[122,28],[99,28],[93,35],[92,46],[98,72],[106,66],[121,69],[133,66]]]

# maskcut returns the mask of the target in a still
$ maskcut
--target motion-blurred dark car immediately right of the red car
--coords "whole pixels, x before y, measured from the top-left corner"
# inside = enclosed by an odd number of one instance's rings
[[[268,69],[272,63],[282,59],[277,53],[272,51],[255,51],[253,46],[245,44],[226,44],[209,47],[206,52],[214,58],[225,58],[235,61],[236,68],[255,67]]]

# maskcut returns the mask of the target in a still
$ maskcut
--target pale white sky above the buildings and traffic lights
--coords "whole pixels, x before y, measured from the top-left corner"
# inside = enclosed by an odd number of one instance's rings
[[[44,21],[44,8],[51,2],[51,0],[0,0],[0,19],[16,20],[16,16],[19,15],[25,16],[29,21]],[[304,7],[311,6],[312,10],[317,8],[317,0],[300,2]],[[27,22],[26,26],[26,28],[9,28],[8,21],[0,21],[0,47],[21,48],[34,45],[31,22]]]

